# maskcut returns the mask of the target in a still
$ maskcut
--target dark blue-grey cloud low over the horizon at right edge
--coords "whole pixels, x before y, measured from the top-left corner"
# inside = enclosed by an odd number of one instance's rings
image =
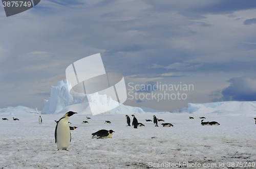
[[[233,77],[227,82],[230,86],[222,90],[223,96],[212,101],[256,101],[256,79]]]

